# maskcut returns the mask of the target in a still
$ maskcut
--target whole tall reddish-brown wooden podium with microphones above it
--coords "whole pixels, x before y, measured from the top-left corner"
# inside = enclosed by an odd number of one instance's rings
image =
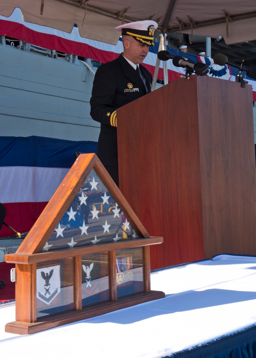
[[[151,236],[151,269],[256,255],[252,87],[180,78],[117,110],[119,185]]]

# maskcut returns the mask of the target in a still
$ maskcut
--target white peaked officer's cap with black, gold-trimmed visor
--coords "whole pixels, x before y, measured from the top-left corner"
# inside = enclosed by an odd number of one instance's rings
[[[156,21],[143,20],[117,26],[122,35],[130,35],[144,45],[154,46],[154,33],[158,25]]]

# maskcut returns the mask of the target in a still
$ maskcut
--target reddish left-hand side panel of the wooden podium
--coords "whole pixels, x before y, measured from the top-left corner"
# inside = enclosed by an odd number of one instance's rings
[[[148,233],[164,238],[151,248],[151,269],[204,258],[192,78],[178,79],[117,110],[120,190]]]

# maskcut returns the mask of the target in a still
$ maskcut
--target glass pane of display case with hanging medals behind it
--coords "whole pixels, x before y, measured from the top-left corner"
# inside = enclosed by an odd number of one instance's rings
[[[116,251],[117,297],[144,291],[142,247]]]

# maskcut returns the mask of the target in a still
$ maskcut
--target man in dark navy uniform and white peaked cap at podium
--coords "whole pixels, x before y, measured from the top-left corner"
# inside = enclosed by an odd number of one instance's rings
[[[96,71],[90,104],[91,117],[100,122],[97,155],[118,186],[116,110],[151,92],[151,73],[141,64],[154,46],[157,23],[136,21],[115,29],[122,31],[124,52]]]

